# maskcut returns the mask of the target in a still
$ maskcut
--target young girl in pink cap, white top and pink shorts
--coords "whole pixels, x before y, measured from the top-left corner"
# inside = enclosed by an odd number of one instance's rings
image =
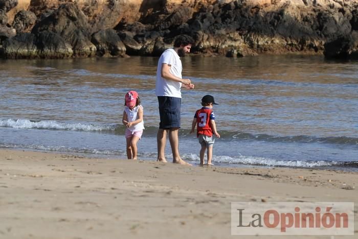
[[[125,95],[125,107],[122,123],[127,127],[125,138],[127,141],[127,159],[137,159],[137,142],[141,139],[144,129],[143,106],[138,93],[129,91]]]

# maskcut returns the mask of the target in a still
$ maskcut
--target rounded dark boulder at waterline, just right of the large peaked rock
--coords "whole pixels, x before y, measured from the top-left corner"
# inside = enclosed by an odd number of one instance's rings
[[[113,29],[101,30],[92,35],[92,43],[97,48],[98,56],[119,56],[125,55],[126,48],[117,32]]]

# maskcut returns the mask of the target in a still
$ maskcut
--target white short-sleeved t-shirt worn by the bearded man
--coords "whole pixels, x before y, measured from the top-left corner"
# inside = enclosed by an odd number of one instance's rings
[[[167,49],[163,52],[158,61],[158,68],[156,69],[155,81],[155,95],[156,96],[170,96],[182,98],[181,82],[167,80],[162,77],[162,65],[166,63],[170,65],[170,73],[176,77],[182,78],[182,61],[174,49]]]

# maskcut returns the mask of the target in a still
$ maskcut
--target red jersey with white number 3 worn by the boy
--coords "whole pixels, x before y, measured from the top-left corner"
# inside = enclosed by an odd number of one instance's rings
[[[200,108],[200,110],[197,110],[195,112],[196,118],[196,126],[197,126],[197,132],[196,135],[207,135],[207,136],[213,136],[213,130],[211,128],[210,120],[215,120],[215,115],[213,110],[208,107]]]

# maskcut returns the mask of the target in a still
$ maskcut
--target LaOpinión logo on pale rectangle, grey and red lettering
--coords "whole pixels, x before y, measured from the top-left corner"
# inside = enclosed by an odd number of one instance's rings
[[[232,235],[353,235],[352,202],[231,203]]]

